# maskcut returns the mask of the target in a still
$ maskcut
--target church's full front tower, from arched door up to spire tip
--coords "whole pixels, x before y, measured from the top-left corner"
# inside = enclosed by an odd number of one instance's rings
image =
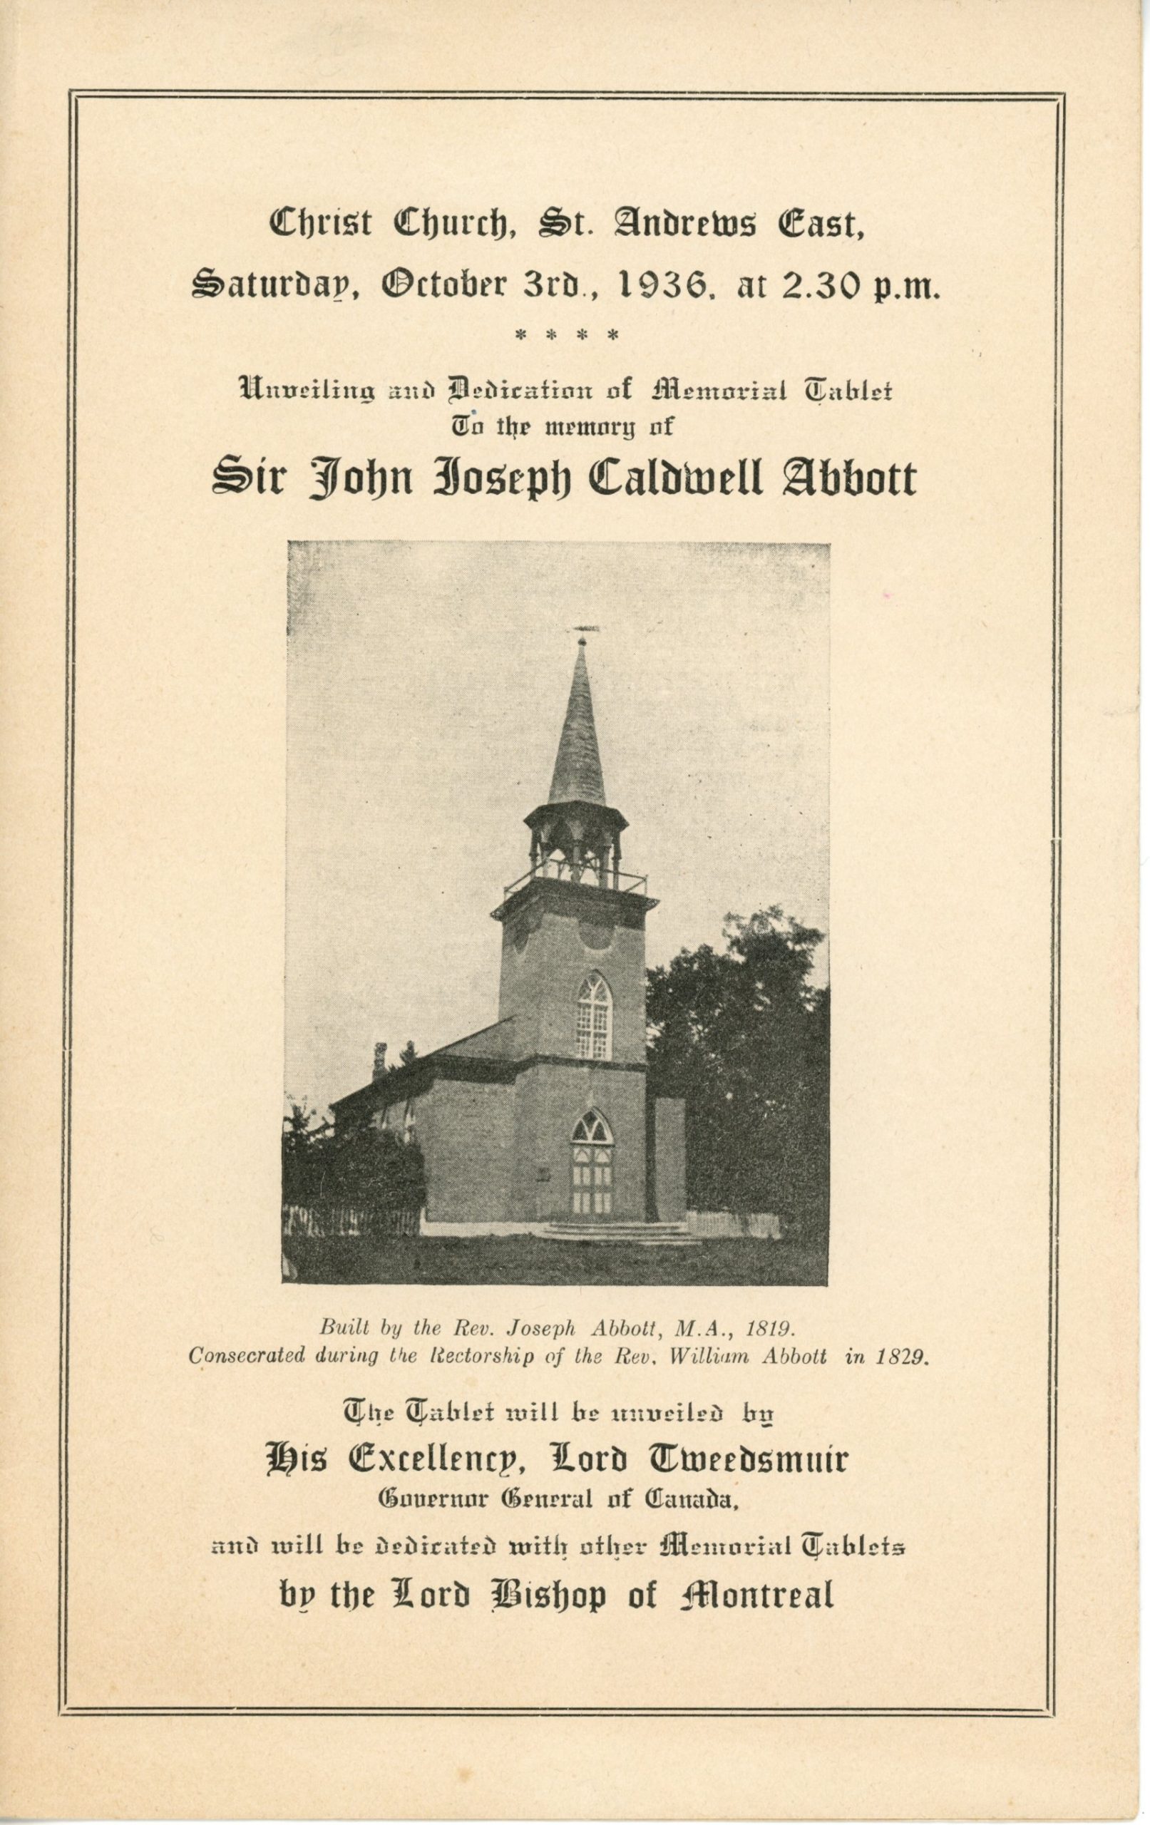
[[[528,872],[493,912],[498,1018],[515,1022],[515,1203],[549,1221],[643,1221],[644,929],[657,902],[622,871],[628,823],[606,799],[584,639],[551,790],[524,823]]]

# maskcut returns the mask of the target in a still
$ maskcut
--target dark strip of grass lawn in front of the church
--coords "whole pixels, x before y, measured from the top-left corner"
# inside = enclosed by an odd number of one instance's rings
[[[555,1243],[538,1236],[442,1241],[392,1236],[285,1241],[310,1285],[378,1287],[825,1287],[823,1237],[781,1243],[734,1237],[694,1248],[630,1243]]]

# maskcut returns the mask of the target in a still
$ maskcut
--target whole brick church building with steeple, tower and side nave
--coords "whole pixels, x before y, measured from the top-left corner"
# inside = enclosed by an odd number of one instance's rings
[[[524,819],[529,867],[502,925],[498,1020],[334,1104],[336,1132],[416,1137],[427,1236],[535,1232],[668,1241],[683,1234],[685,1108],[646,1086],[646,878],[622,871],[586,641],[546,803]],[[657,1225],[659,1228],[653,1228]]]

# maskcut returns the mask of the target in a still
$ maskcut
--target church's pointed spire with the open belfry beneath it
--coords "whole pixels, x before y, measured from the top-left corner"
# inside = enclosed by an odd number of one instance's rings
[[[531,830],[531,874],[582,887],[619,887],[619,838],[626,818],[606,801],[584,639],[575,653],[551,792],[524,821]]]

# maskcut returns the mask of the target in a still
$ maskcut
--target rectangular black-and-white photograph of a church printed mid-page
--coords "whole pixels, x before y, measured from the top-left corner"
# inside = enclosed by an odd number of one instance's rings
[[[827,1283],[829,579],[290,546],[285,1279]]]

